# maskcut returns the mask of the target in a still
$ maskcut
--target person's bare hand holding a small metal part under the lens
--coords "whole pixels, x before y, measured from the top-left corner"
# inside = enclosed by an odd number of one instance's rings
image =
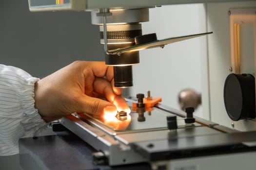
[[[130,113],[122,90],[114,87],[113,74],[105,62],[76,61],[35,84],[35,107],[46,122],[75,112]]]

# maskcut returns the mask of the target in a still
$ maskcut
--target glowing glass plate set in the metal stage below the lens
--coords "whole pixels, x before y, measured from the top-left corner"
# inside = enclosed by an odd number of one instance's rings
[[[153,108],[131,108],[131,113],[127,115],[127,119],[118,120],[117,117],[113,116],[104,116],[100,118],[94,118],[89,114],[80,113],[78,114],[80,117],[91,118],[102,125],[111,128],[114,131],[152,131],[158,129],[167,129],[167,116],[174,116],[174,114],[165,112],[156,107]],[[142,110],[142,111],[141,111]],[[86,117],[84,117],[86,119]],[[185,121],[183,118],[177,118],[178,128],[185,127]],[[193,126],[200,126],[195,123]]]

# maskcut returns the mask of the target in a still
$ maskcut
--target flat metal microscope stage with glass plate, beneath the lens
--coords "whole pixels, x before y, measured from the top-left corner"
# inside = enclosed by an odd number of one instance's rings
[[[137,102],[126,101],[130,107]],[[170,115],[177,116],[177,130],[167,129],[166,117]],[[79,113],[62,118],[60,123],[102,151],[112,166],[256,150],[256,132],[239,133],[196,117],[196,123],[185,125],[185,112],[161,104],[150,109],[133,108],[126,116],[121,120],[114,116],[96,119]]]

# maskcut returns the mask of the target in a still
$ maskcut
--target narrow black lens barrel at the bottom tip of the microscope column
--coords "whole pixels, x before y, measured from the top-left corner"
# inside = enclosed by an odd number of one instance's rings
[[[114,85],[115,87],[133,86],[132,66],[114,66]]]

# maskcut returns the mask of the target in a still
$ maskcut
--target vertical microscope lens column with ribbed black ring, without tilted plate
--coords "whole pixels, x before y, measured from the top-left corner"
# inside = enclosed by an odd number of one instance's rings
[[[104,18],[100,16],[106,15]],[[114,86],[133,86],[132,66],[139,63],[139,51],[111,54],[108,51],[135,45],[135,37],[142,35],[141,23],[149,20],[149,10],[114,9],[105,13],[91,12],[92,23],[100,27],[100,43],[104,44],[106,65],[114,67]]]

